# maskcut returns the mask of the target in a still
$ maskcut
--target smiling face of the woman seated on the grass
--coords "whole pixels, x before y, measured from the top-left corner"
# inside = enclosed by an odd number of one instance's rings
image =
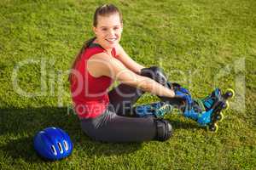
[[[119,43],[123,30],[119,14],[111,14],[109,16],[99,15],[97,26],[93,30],[96,34],[96,41],[102,48],[114,48]]]

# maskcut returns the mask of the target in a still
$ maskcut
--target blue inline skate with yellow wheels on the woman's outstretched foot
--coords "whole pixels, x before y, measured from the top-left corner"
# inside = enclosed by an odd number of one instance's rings
[[[171,83],[170,83],[171,84]],[[222,94],[219,88],[216,88],[212,94],[204,99],[192,99],[189,90],[182,88],[179,84],[172,83],[177,99],[184,99],[185,103],[181,107],[183,116],[198,122],[202,127],[207,127],[212,132],[218,131],[218,122],[222,121],[224,115],[221,111],[229,108],[228,99],[235,96],[232,89],[227,89]]]

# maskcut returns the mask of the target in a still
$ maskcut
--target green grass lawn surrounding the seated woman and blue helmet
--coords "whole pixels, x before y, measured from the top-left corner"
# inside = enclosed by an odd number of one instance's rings
[[[166,116],[175,129],[172,139],[142,144],[92,141],[77,116],[67,114],[71,99],[65,71],[93,36],[92,15],[102,3],[0,2],[0,169],[255,168],[256,2],[113,1],[124,15],[121,44],[133,59],[160,65],[172,82],[182,83],[198,98],[214,87],[236,90],[218,133],[174,114]],[[43,92],[41,96],[20,95],[13,84],[15,66],[28,59],[38,64],[20,67],[19,87]],[[47,81],[40,81],[41,76]],[[153,100],[146,95],[139,103]],[[72,156],[54,162],[37,156],[32,138],[49,126],[69,133]]]

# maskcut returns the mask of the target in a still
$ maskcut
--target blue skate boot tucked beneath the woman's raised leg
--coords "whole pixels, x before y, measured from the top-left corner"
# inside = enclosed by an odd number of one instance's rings
[[[138,117],[155,116],[159,118],[171,112],[172,109],[172,105],[165,102],[156,102],[148,105],[138,105],[133,108],[132,112]]]

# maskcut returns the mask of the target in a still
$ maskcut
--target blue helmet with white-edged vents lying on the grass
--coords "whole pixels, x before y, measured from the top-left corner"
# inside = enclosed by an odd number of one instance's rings
[[[34,137],[34,148],[40,156],[60,160],[71,154],[73,144],[68,134],[58,127],[48,127]]]

